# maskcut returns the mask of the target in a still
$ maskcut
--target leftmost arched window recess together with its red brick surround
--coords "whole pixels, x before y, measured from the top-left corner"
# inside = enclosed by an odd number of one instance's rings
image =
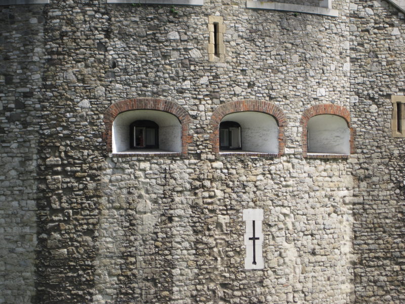
[[[187,154],[191,135],[188,127],[191,118],[179,104],[157,98],[134,98],[117,101],[104,112],[105,131],[103,140],[107,151],[121,154],[134,153],[181,153]],[[133,127],[145,128],[157,125],[155,133],[158,146],[154,151],[143,148],[131,148]],[[149,126],[149,127],[148,127]],[[133,136],[133,135],[132,135]]]

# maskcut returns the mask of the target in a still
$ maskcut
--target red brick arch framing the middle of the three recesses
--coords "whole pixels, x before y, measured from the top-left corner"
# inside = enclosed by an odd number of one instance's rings
[[[219,153],[219,124],[221,120],[230,113],[246,111],[262,112],[275,118],[278,125],[278,155],[283,155],[285,147],[284,127],[287,124],[284,112],[274,103],[254,99],[227,102],[214,110],[210,122],[212,130],[210,141],[213,146],[213,152]]]

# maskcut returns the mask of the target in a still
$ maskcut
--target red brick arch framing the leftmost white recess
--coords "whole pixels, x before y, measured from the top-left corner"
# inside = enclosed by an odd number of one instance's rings
[[[103,140],[107,144],[108,152],[112,152],[112,123],[123,112],[132,110],[158,110],[173,114],[181,124],[182,155],[187,154],[188,145],[192,137],[188,134],[191,117],[188,112],[177,103],[156,98],[134,98],[117,101],[111,104],[104,113],[105,131]]]

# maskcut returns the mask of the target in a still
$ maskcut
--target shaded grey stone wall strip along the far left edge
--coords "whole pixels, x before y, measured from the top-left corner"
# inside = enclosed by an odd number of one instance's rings
[[[35,293],[43,6],[0,6],[0,303]]]

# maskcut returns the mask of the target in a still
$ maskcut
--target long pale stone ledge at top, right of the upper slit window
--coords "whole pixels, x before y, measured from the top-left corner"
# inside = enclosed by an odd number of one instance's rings
[[[315,14],[323,16],[338,17],[339,11],[321,7],[313,7],[307,5],[297,5],[289,3],[278,3],[278,2],[262,2],[262,1],[246,1],[246,7],[248,9],[259,9],[259,10],[274,10],[274,11],[287,11],[287,12],[297,12],[305,14]]]

